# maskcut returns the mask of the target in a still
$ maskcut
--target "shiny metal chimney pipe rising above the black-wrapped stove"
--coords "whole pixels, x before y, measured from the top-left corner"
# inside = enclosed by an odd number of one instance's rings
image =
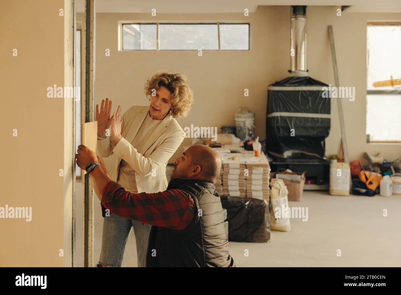
[[[291,70],[294,75],[307,75],[306,6],[291,6]]]

